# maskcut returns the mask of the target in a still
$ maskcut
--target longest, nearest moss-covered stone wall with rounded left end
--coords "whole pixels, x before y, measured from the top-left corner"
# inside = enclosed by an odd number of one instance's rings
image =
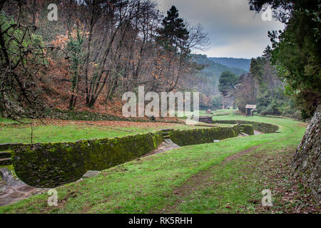
[[[34,187],[56,187],[88,170],[106,170],[146,155],[163,141],[161,132],[78,142],[19,144],[11,147],[16,175]]]

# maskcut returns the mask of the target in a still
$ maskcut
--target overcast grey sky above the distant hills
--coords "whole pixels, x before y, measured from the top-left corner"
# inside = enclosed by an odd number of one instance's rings
[[[279,21],[263,21],[249,10],[248,0],[156,0],[160,11],[178,8],[190,24],[202,24],[210,38],[208,57],[256,58],[270,44],[267,31],[280,30]]]

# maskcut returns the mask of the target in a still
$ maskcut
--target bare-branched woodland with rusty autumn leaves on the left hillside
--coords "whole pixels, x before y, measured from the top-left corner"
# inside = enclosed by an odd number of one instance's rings
[[[195,69],[191,49],[208,42],[200,25],[163,16],[153,1],[1,1],[1,113],[111,107],[126,91],[170,92]]]

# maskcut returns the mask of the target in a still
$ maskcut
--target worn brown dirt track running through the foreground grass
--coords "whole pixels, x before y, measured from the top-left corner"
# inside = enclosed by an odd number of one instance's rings
[[[225,163],[236,160],[245,154],[254,152],[260,146],[261,145],[250,147],[247,150],[238,152],[235,155],[230,155],[229,157],[225,158],[225,160],[222,163],[220,163],[220,165],[224,165]],[[213,166],[208,168],[207,170],[199,172],[197,175],[194,175],[193,177],[190,177],[188,180],[186,180],[183,185],[181,185],[178,188],[175,188],[172,194],[179,196],[176,202],[174,204],[166,205],[165,208],[163,208],[161,211],[158,211],[156,213],[165,213],[165,214],[177,213],[177,207],[180,204],[181,199],[188,197],[188,195],[190,195],[191,192],[193,192],[195,189],[199,188],[200,186],[213,185],[213,180],[211,180],[211,177],[212,177],[212,170],[215,169],[215,167],[216,166]]]

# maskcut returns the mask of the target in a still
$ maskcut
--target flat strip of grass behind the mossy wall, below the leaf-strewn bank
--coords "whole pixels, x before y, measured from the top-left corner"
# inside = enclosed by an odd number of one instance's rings
[[[2,123],[2,124],[1,124]],[[3,124],[6,123],[6,124]],[[30,125],[21,125],[12,120],[0,119],[0,143],[21,142],[31,143]],[[115,138],[126,135],[137,135],[140,133],[156,132],[162,128],[173,128],[177,130],[187,130],[193,127],[183,124],[164,125],[159,123],[158,126],[146,128],[144,126],[131,126],[128,123],[126,127],[98,127],[96,125],[76,124],[71,121],[69,125],[39,125],[34,128],[33,143],[37,142],[74,142],[83,139],[95,138]],[[92,122],[91,122],[92,123]],[[99,125],[99,123],[97,123]]]

